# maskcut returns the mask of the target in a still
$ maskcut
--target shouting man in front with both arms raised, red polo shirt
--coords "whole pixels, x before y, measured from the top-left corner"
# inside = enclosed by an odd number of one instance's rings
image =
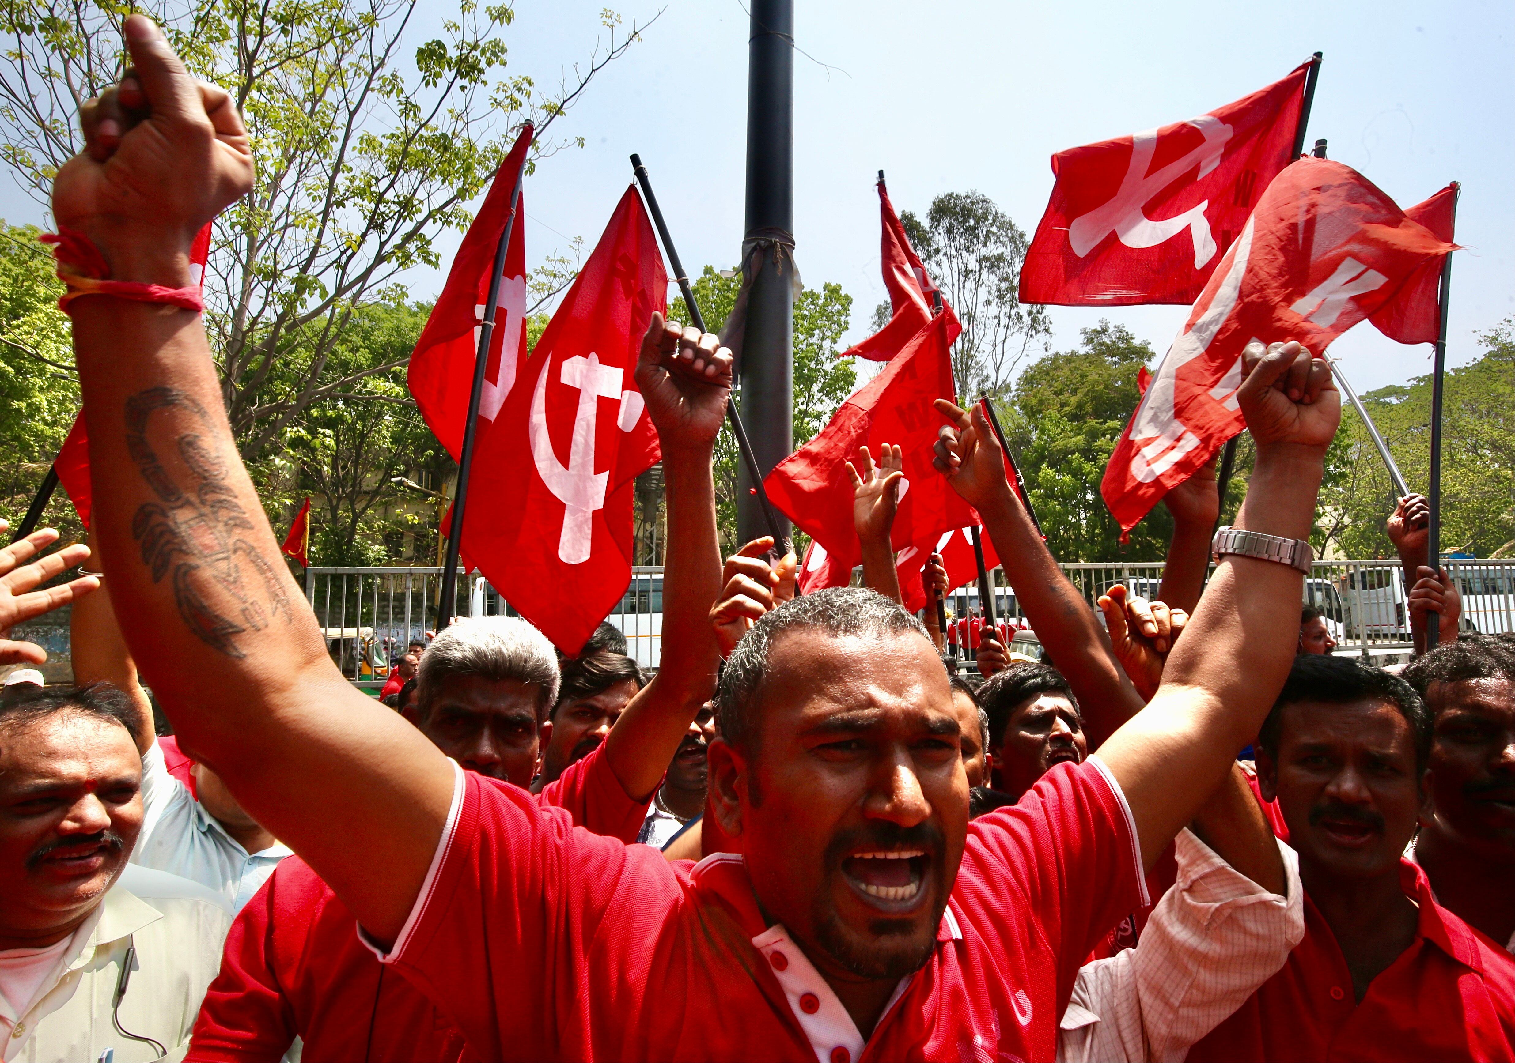
[[[105,104],[86,112],[89,150],[61,168],[53,212],[118,279],[185,288],[188,242],[250,188],[251,153],[230,98],[194,85],[147,18],[126,36],[150,109],[106,106],[109,138]],[[70,309],[108,578],[186,751],[486,1058],[1050,1058],[1089,946],[1144,899],[1144,862],[1224,780],[1288,671],[1300,568],[1227,539],[1147,709],[970,827],[951,690],[918,621],[867,591],[806,595],[758,621],[721,680],[711,786],[744,857],[671,865],[462,772],[355,692],[289,604],[200,320],[103,295]],[[1242,368],[1256,463],[1236,525],[1307,557],[1339,421],[1330,371],[1297,344],[1251,344]],[[708,477],[729,351],[654,313],[636,383]],[[982,412],[948,409],[939,466],[992,528],[1017,504],[1003,453]],[[141,560],[138,512],[177,536],[171,580]],[[200,637],[227,616],[248,619]]]

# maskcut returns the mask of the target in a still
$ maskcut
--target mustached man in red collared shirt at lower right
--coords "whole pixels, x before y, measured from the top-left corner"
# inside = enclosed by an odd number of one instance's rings
[[[1257,781],[1300,854],[1304,940],[1191,1061],[1515,1058],[1515,960],[1400,856],[1430,807],[1430,727],[1404,680],[1297,659]]]

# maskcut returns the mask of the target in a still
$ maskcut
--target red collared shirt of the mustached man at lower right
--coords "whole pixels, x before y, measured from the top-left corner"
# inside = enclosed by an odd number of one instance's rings
[[[1353,999],[1351,972],[1304,896],[1304,940],[1204,1040],[1209,1060],[1515,1060],[1515,960],[1436,904],[1415,865],[1400,868],[1420,906],[1415,942]]]

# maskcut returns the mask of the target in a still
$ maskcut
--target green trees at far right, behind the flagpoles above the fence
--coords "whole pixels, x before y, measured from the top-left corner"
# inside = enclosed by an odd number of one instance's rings
[[[1441,547],[1480,557],[1515,551],[1515,318],[1482,333],[1483,356],[1445,377],[1442,400]],[[1430,474],[1432,379],[1362,397],[1410,491]],[[1332,544],[1348,557],[1394,557],[1385,519],[1394,486],[1356,412],[1327,462],[1321,507]]]

